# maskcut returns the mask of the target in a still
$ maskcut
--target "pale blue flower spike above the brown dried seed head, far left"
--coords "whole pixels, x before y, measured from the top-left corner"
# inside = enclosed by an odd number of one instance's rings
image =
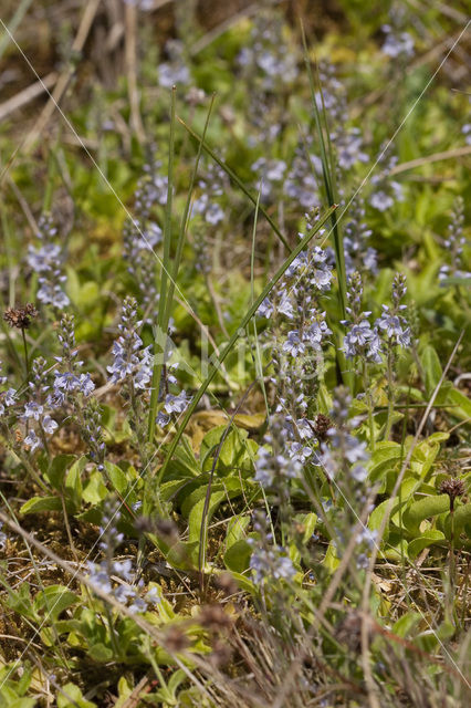
[[[40,218],[36,237],[41,246],[30,246],[27,260],[31,270],[39,274],[38,300],[62,310],[70,304],[70,300],[63,288],[66,280],[61,268],[63,253],[61,247],[54,242],[57,228],[51,215],[45,214]]]

